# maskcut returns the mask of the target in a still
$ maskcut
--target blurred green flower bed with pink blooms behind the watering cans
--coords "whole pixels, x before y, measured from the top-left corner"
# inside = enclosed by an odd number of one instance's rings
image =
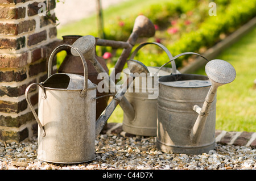
[[[218,0],[216,16],[210,16],[209,1],[175,1],[151,6],[142,11],[156,28],[155,36],[146,41],[156,41],[165,45],[175,56],[182,52],[204,53],[218,41],[235,31],[242,24],[256,15],[256,0]],[[108,24],[105,28],[106,39],[126,41],[133,28],[133,17],[117,18],[117,22]],[[118,24],[117,26],[115,26]],[[144,41],[144,40],[142,40]],[[136,47],[136,46],[135,46]],[[134,48],[135,48],[134,47]],[[110,49],[107,49],[111,51]],[[119,57],[117,51],[112,57],[112,65]],[[157,47],[145,47],[137,54],[137,60],[147,66],[161,66],[167,62],[167,56]],[[188,61],[188,56],[177,59],[176,66],[180,68]],[[171,66],[168,65],[168,66]]]

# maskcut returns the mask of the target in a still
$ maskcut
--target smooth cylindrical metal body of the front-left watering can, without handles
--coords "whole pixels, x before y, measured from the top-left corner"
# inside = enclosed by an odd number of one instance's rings
[[[96,86],[87,90],[85,98],[80,97],[81,90],[43,86],[44,89],[39,88],[38,117],[46,136],[41,136],[39,129],[38,158],[56,163],[94,159],[96,100],[91,98],[96,97]]]

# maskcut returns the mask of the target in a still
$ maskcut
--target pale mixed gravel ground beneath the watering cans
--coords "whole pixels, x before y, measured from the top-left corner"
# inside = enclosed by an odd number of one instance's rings
[[[40,161],[37,138],[20,143],[0,142],[0,170],[256,170],[256,149],[216,144],[200,155],[163,153],[155,137],[101,134],[95,141],[96,159],[80,164]]]

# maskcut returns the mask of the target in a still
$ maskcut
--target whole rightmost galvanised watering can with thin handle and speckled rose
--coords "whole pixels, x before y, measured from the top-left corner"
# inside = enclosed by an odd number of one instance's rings
[[[181,53],[173,60],[184,54],[197,53]],[[232,82],[236,70],[224,60],[211,60],[205,72],[207,76],[174,74],[159,78],[158,149],[184,154],[214,149],[217,88]]]

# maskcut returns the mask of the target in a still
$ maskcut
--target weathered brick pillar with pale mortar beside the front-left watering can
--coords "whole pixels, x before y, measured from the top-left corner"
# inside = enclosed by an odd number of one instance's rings
[[[51,15],[39,11],[40,2]],[[19,142],[37,134],[24,92],[47,78],[47,58],[59,42],[54,9],[55,0],[0,0],[0,140]],[[30,93],[35,109],[37,91]]]

